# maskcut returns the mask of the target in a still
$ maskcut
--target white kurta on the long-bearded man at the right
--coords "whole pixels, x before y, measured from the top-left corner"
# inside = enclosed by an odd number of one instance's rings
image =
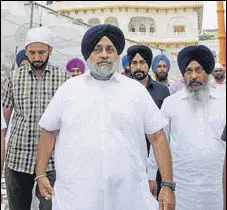
[[[195,109],[183,88],[165,99],[161,111],[169,119],[176,210],[223,209],[225,98],[211,88],[208,103]]]

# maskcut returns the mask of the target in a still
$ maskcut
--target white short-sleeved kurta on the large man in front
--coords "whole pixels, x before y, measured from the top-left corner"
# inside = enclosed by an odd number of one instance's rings
[[[59,129],[53,210],[157,210],[146,174],[146,140],[167,124],[146,88],[116,73],[73,77],[40,126]]]

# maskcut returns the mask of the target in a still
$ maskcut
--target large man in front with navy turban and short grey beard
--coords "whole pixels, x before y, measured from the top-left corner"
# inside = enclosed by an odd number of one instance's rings
[[[48,131],[45,141],[61,134],[55,146],[53,141],[44,151],[48,157],[54,148],[54,189],[45,174],[39,179],[39,184],[46,183],[42,195],[49,198],[54,193],[53,210],[158,210],[149,190],[144,133],[165,185],[174,185],[162,130],[166,119],[141,84],[119,73],[124,43],[116,26],[89,29],[82,41],[88,71],[58,89],[40,120],[40,127]],[[37,168],[47,161],[39,159]],[[170,188],[163,185],[159,194],[162,209],[174,209],[174,188]]]

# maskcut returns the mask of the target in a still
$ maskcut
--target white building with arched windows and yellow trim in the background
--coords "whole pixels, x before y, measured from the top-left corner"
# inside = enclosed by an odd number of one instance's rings
[[[116,25],[128,40],[174,53],[198,44],[203,18],[203,1],[49,1],[47,6],[89,25]]]

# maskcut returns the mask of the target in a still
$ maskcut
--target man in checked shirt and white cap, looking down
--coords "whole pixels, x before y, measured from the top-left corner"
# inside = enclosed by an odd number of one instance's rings
[[[12,125],[5,158],[5,178],[9,209],[30,210],[36,177],[36,160],[41,128],[38,125],[45,108],[58,87],[71,74],[51,65],[54,34],[47,28],[28,31],[25,50],[28,63],[15,69],[3,88],[2,104],[6,123]],[[51,185],[55,182],[53,156],[46,171]],[[51,210],[52,203],[36,189],[39,209]]]

